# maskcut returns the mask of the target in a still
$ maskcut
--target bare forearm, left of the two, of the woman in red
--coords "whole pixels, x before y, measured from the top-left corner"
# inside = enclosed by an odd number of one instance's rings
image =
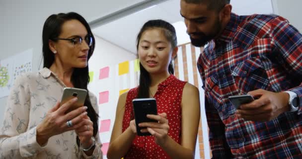
[[[108,159],[121,159],[129,151],[132,141],[136,134],[128,127],[119,137],[110,143],[107,158]]]

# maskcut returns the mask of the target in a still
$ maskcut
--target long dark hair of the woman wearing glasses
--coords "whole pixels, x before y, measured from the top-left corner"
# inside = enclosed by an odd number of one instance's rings
[[[43,32],[42,32],[43,68],[46,67],[49,69],[55,61],[55,55],[49,48],[49,40],[56,42],[57,41],[56,38],[58,38],[62,32],[63,24],[66,21],[74,20],[74,19],[81,22],[85,26],[88,35],[92,37],[92,45],[89,47],[89,51],[88,51],[88,60],[90,59],[94,51],[95,40],[87,21],[81,15],[75,12],[52,14],[46,19],[43,26]],[[90,79],[89,79],[88,65],[85,68],[74,68],[74,72],[71,77],[71,82],[76,88],[86,89],[88,91],[87,84],[89,80]],[[88,107],[87,115],[89,116],[90,120],[93,122],[93,136],[95,136],[98,131],[98,123],[97,123],[98,114],[95,112],[95,110],[92,107],[89,95],[86,96],[84,105]],[[76,139],[76,142],[77,144],[79,144],[78,138]]]

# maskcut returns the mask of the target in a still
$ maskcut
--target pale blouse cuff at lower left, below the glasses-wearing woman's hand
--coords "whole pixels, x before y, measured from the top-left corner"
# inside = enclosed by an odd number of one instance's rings
[[[38,153],[44,150],[47,143],[41,147],[37,143],[37,127],[30,129],[26,133],[22,134],[19,139],[20,155],[23,158],[35,157]]]

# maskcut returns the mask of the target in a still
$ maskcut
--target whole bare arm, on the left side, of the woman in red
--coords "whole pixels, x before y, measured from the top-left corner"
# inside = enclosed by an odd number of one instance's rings
[[[122,124],[123,124],[123,117],[125,112],[125,104],[127,94],[123,93],[119,97],[119,101],[117,104],[116,115],[114,126],[111,134],[110,145],[107,152],[108,159],[121,159],[123,158],[127,152],[129,151],[132,141],[134,140],[136,133],[133,132],[131,126],[127,128],[126,131],[122,132]],[[133,123],[131,123],[133,122]],[[130,122],[134,124],[134,120]]]

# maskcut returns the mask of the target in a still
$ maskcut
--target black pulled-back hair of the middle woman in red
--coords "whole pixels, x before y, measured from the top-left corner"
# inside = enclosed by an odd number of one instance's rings
[[[136,46],[137,50],[139,50],[139,43],[140,43],[143,33],[149,29],[154,29],[154,28],[162,29],[165,37],[171,43],[172,49],[177,47],[176,32],[175,32],[175,28],[173,27],[173,25],[171,25],[170,23],[168,23],[164,20],[157,19],[157,20],[149,20],[141,28],[141,31],[139,32],[139,34],[137,36],[137,46]],[[148,98],[149,92],[150,92],[149,87],[151,84],[150,75],[147,72],[147,70],[143,67],[141,62],[140,62],[140,70],[141,70],[140,84],[139,84],[139,91],[138,91],[137,98]],[[169,64],[168,72],[170,74],[174,74],[172,61]]]

